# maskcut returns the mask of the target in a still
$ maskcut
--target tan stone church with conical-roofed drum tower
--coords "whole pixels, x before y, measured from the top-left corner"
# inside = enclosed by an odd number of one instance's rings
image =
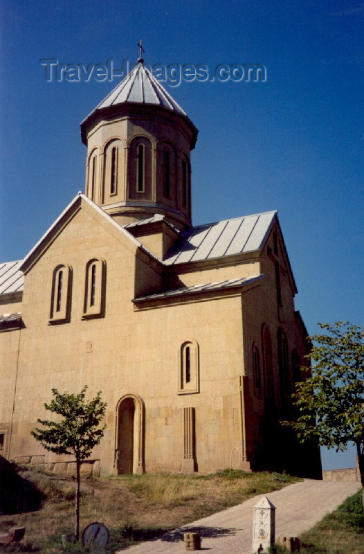
[[[309,343],[277,213],[192,225],[197,128],[141,58],[81,136],[84,193],[0,264],[0,454],[72,474],[30,431],[52,388],[87,385],[107,427],[84,474],[320,478],[318,448],[279,425]]]

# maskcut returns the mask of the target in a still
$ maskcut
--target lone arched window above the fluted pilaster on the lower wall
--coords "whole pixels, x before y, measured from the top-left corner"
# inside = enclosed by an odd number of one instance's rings
[[[199,391],[199,344],[194,340],[185,341],[179,349],[179,394]]]

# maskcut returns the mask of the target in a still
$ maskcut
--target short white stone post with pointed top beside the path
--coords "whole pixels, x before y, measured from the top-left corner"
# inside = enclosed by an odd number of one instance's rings
[[[263,497],[253,510],[253,553],[263,554],[275,541],[275,506]]]

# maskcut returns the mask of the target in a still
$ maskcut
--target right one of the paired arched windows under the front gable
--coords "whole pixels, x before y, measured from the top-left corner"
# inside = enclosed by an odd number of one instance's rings
[[[104,316],[106,263],[93,258],[86,265],[84,280],[84,310],[82,319]]]

